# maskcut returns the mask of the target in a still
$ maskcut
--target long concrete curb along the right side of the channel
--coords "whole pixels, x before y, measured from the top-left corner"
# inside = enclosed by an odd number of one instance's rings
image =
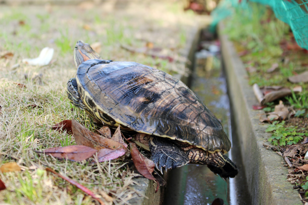
[[[286,181],[288,171],[282,166],[283,159],[272,150],[263,147],[269,135],[266,125],[259,123],[263,111],[254,111],[258,104],[252,86],[248,84],[248,75],[241,59],[237,56],[233,44],[222,33],[223,24],[219,23],[218,32],[222,56],[227,75],[229,98],[236,121],[240,142],[240,151],[245,168],[251,204],[302,204],[293,185]],[[264,112],[263,112],[264,113]]]

